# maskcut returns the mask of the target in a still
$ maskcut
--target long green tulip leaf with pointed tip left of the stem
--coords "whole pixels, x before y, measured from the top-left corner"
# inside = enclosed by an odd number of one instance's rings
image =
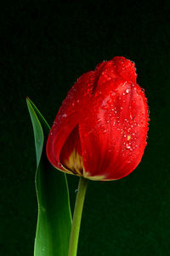
[[[34,131],[37,172],[37,233],[34,256],[67,256],[71,232],[71,208],[65,173],[48,162],[46,141],[49,125],[29,98],[26,98]]]

